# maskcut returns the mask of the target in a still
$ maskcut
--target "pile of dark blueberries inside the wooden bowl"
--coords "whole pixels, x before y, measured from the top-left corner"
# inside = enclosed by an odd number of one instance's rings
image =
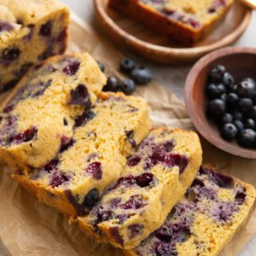
[[[242,147],[256,147],[256,84],[253,79],[235,83],[222,65],[213,67],[207,84],[207,115],[214,119],[221,136],[236,138]]]

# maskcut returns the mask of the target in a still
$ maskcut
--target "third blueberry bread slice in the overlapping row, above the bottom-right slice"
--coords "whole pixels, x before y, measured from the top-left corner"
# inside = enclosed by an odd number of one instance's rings
[[[201,143],[193,131],[150,131],[122,177],[78,224],[98,240],[133,248],[160,228],[201,166]]]

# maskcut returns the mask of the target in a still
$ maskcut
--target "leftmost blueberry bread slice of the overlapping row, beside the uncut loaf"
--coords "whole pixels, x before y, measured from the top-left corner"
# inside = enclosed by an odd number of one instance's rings
[[[58,55],[32,67],[1,107],[1,160],[25,173],[45,166],[105,83],[88,54]]]

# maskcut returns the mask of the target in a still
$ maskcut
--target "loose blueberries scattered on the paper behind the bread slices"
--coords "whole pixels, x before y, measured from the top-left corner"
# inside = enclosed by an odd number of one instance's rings
[[[102,72],[105,71],[105,67],[101,61],[98,61],[98,65]],[[122,73],[125,73],[131,77],[131,79],[124,79],[119,81],[114,76],[108,76],[107,84],[104,86],[103,91],[123,91],[125,95],[131,95],[135,90],[135,84],[148,84],[152,75],[148,68],[146,67],[136,67],[134,61],[130,58],[125,58],[120,62],[119,69]]]

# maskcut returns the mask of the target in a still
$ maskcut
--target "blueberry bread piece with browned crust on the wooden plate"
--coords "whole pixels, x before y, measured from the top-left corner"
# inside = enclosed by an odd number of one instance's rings
[[[109,6],[179,43],[193,44],[212,31],[232,3],[233,0],[110,0]]]

